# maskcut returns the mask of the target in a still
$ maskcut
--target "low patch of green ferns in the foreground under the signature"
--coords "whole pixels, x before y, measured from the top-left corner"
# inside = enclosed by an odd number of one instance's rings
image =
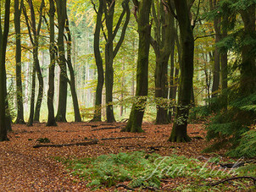
[[[58,157],[56,159],[63,162],[72,174],[86,180],[86,186],[92,189],[111,187],[124,181],[129,181],[128,185],[131,188],[159,189],[164,178],[189,178],[193,181],[187,186],[180,184],[176,191],[187,187],[189,189],[210,189],[206,186],[208,181],[237,174],[235,170],[211,168],[209,164],[216,162],[215,158],[208,162],[201,162],[196,158],[175,154],[159,156],[155,153],[147,154],[144,151],[121,152],[97,158],[63,159]]]

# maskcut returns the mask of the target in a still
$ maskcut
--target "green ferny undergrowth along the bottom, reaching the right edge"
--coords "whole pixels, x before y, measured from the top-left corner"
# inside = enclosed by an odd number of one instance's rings
[[[101,155],[91,158],[54,157],[63,162],[66,168],[80,179],[86,180],[91,189],[104,189],[111,186],[125,189],[160,189],[165,179],[186,178],[190,182],[179,184],[173,191],[226,191],[234,189],[255,189],[250,180],[236,181],[232,185],[213,184],[230,177],[255,175],[255,165],[226,169],[220,167],[220,156],[207,161],[186,156],[160,156],[145,151],[120,152],[118,154]],[[229,162],[235,162],[230,160]],[[219,166],[218,166],[219,165]],[[124,184],[120,184],[124,183]],[[125,185],[127,184],[127,185]]]

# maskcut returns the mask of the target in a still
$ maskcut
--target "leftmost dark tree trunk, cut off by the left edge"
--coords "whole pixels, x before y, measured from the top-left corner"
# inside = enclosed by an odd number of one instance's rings
[[[2,2],[0,2],[0,8]],[[5,69],[5,57],[6,47],[8,41],[9,30],[9,14],[10,14],[10,0],[5,1],[4,5],[4,25],[0,24],[0,141],[8,140],[7,137],[7,117],[6,117],[6,69]],[[0,14],[0,20],[2,13]]]

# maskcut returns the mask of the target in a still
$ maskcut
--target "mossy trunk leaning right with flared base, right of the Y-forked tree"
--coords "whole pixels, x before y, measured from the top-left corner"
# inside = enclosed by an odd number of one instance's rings
[[[143,132],[142,119],[146,107],[148,91],[148,53],[151,25],[149,25],[149,13],[151,0],[134,1],[138,8],[137,23],[139,33],[139,50],[136,67],[136,103],[131,107],[129,121],[122,131]]]

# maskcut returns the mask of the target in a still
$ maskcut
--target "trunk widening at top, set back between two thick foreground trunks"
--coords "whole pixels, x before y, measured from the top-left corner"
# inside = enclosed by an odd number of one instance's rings
[[[168,61],[172,45],[175,43],[174,17],[163,2],[152,3],[154,27],[154,39],[151,37],[151,45],[156,55],[155,69],[155,97],[157,101],[156,123],[169,123],[168,107],[166,101],[168,97]]]

